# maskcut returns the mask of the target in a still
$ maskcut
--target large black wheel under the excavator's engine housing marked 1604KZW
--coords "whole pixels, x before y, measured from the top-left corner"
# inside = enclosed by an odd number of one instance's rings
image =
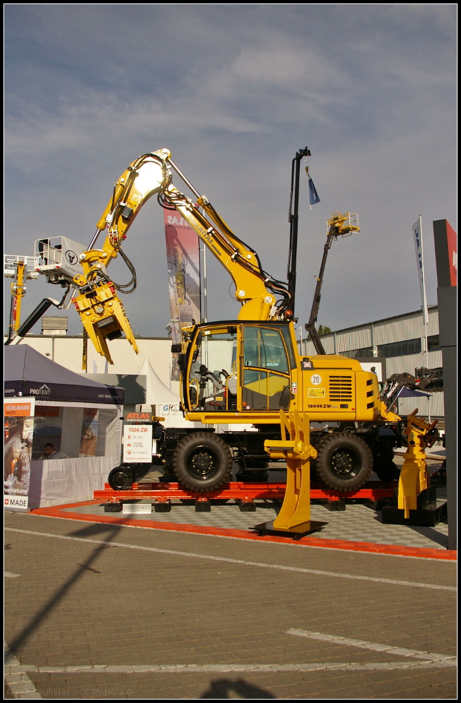
[[[368,444],[349,432],[328,434],[317,447],[313,463],[320,482],[335,491],[355,491],[363,486],[373,470]]]

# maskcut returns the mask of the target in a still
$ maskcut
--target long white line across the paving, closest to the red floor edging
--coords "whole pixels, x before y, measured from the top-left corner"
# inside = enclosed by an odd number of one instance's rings
[[[263,569],[280,569],[281,571],[298,572],[301,574],[317,574],[318,576],[333,576],[336,579],[353,579],[353,581],[377,581],[377,583],[394,583],[397,586],[415,586],[417,588],[431,588],[436,591],[456,591],[455,586],[440,586],[438,583],[417,583],[413,581],[398,581],[397,579],[379,579],[375,576],[356,576],[353,574],[342,574],[340,572],[320,571],[320,569],[302,569],[300,567],[286,567],[280,564],[264,564],[264,562],[247,562],[242,559],[231,559],[229,557],[215,557],[208,554],[195,554],[193,552],[179,552],[173,549],[160,549],[157,547],[143,547],[134,544],[123,544],[121,542],[112,542],[110,540],[87,539],[85,537],[70,537],[60,534],[48,534],[48,532],[36,532],[27,529],[16,529],[14,527],[6,527],[10,532],[19,532],[21,534],[34,534],[40,537],[53,537],[55,539],[65,539],[75,542],[86,542],[89,544],[109,544],[112,547],[122,547],[124,549],[137,549],[144,552],[152,552],[157,554],[171,554],[179,557],[194,557],[195,559],[207,559],[216,562],[227,562],[229,564],[241,564],[243,566],[261,567]]]

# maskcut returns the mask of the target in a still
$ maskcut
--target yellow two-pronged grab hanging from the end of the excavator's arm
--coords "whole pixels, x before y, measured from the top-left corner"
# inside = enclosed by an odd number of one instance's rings
[[[77,285],[84,285],[86,282],[84,276],[75,276],[74,280]],[[136,354],[139,354],[122,301],[111,281],[95,283],[89,295],[80,293],[72,298],[72,302],[82,318],[84,329],[93,342],[96,352],[105,356],[109,363],[114,362],[105,340],[121,337],[122,332],[125,333],[126,339]]]

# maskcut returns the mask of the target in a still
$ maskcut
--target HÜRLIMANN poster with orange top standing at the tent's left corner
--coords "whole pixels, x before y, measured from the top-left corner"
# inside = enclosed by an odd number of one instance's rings
[[[27,510],[34,439],[34,398],[4,399],[4,508]]]

